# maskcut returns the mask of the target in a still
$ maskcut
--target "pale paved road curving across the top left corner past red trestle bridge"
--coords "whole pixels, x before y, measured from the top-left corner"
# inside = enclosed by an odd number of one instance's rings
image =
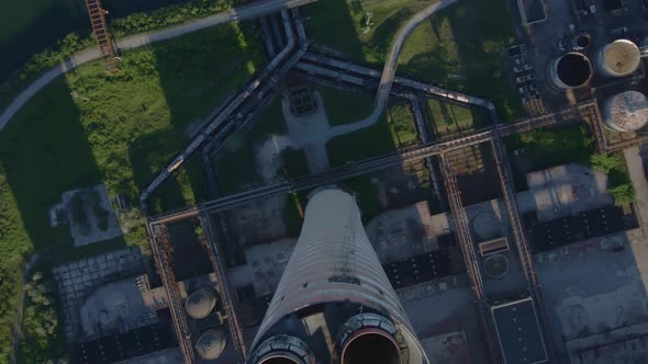
[[[170,39],[180,35],[197,32],[206,27],[225,24],[233,21],[255,19],[269,13],[300,7],[317,0],[265,0],[252,3],[249,5],[238,7],[236,9],[224,11],[208,18],[198,19],[192,22],[180,24],[153,33],[137,34],[118,41],[118,48],[133,49],[147,44]],[[74,54],[70,59],[64,64],[47,70],[43,76],[36,79],[24,91],[22,91],[0,115],[0,130],[7,126],[11,118],[20,109],[30,101],[38,91],[54,81],[57,77],[68,72],[80,65],[101,58],[98,47],[86,49]]]

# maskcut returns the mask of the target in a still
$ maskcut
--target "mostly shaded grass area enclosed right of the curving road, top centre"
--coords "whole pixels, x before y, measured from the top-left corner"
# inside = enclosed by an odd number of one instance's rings
[[[509,2],[467,0],[450,5],[422,24],[417,32],[436,37],[427,52],[402,65],[404,73],[491,100],[504,121],[523,114],[509,84],[503,49],[515,33]],[[505,10],[505,11],[503,11]],[[429,42],[427,39],[426,42]],[[405,47],[407,48],[407,47]]]

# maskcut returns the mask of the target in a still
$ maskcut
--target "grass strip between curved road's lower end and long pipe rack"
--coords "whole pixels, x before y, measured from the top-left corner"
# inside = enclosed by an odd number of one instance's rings
[[[416,130],[409,107],[396,104],[389,106],[376,124],[328,140],[326,151],[331,164],[336,167],[384,155],[416,143]]]

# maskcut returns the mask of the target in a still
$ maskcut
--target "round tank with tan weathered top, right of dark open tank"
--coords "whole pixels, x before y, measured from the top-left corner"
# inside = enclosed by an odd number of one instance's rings
[[[618,39],[599,50],[596,64],[605,76],[624,77],[637,70],[640,56],[639,47],[636,44],[627,39]]]

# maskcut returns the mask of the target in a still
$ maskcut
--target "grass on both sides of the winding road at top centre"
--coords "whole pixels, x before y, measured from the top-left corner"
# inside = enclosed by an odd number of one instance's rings
[[[396,31],[434,1],[329,0],[306,8],[320,50],[382,66]],[[365,26],[367,13],[373,14]],[[335,26],[331,26],[335,24]],[[405,42],[399,73],[492,100],[504,120],[522,115],[503,48],[514,42],[506,0],[465,0],[423,22]]]

